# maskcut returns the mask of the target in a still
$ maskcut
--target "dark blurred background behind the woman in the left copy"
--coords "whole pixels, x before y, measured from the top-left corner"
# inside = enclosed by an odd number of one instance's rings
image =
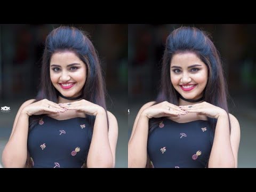
[[[35,98],[47,34],[60,24],[0,25],[0,155],[23,102]],[[127,25],[68,25],[85,30],[97,49],[107,85],[107,109],[118,122],[116,167],[127,167]]]

